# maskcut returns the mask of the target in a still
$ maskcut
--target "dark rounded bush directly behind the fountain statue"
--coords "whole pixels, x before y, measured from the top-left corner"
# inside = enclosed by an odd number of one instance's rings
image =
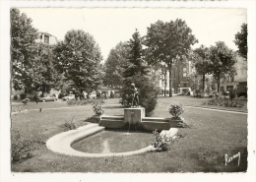
[[[158,104],[160,90],[146,77],[127,78],[120,91],[121,103],[125,106],[131,106],[132,103],[132,83],[139,89],[139,105],[145,107],[146,116],[150,116]]]

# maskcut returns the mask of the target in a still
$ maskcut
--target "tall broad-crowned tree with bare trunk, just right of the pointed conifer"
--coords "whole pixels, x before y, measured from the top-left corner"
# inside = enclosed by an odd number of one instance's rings
[[[150,64],[164,62],[169,72],[169,96],[171,90],[171,69],[174,61],[180,62],[188,56],[188,50],[197,39],[185,21],[176,19],[175,22],[163,23],[158,21],[148,28],[145,44],[148,46],[148,61]]]

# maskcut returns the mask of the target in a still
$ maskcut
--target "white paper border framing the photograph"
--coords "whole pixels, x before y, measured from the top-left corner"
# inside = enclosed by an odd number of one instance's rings
[[[255,7],[250,1],[0,1],[0,179],[1,181],[255,181]],[[248,10],[248,171],[246,173],[195,173],[195,174],[131,174],[131,173],[11,173],[10,166],[10,8],[11,7],[138,7],[138,8],[246,8]],[[174,156],[173,156],[174,157]]]

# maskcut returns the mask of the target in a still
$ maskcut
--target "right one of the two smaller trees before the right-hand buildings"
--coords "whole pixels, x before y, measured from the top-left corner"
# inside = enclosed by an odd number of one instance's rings
[[[235,72],[234,64],[236,59],[233,51],[224,44],[224,41],[218,41],[215,46],[211,46],[209,49],[209,60],[210,71],[217,81],[217,90],[219,91],[222,75]]]

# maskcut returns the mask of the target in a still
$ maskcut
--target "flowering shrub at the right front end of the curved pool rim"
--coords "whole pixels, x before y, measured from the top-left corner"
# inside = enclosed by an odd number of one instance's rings
[[[171,137],[166,137],[166,135],[160,135],[159,132],[153,131],[154,139],[152,146],[158,152],[168,151],[170,149],[170,145],[174,142]]]

